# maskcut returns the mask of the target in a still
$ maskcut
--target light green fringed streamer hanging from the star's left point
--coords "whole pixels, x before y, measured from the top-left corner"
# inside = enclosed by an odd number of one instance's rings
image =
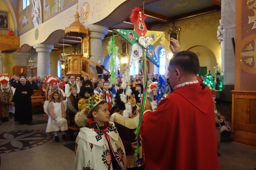
[[[115,75],[115,56],[118,56],[118,47],[115,46],[114,32],[112,32],[112,38],[108,43],[108,52],[110,55],[109,68],[110,68],[110,86],[117,84],[117,77]]]

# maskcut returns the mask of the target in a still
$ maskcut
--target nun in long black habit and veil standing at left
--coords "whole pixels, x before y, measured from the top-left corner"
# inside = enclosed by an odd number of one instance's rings
[[[32,103],[31,96],[34,94],[32,86],[26,84],[25,78],[20,78],[15,93],[13,95],[12,104],[15,104],[14,121],[20,124],[29,123],[32,121]]]

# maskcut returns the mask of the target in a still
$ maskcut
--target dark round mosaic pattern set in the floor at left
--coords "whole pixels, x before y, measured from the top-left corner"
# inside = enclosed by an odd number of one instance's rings
[[[37,147],[52,138],[52,133],[37,130],[2,132],[0,133],[0,154]]]

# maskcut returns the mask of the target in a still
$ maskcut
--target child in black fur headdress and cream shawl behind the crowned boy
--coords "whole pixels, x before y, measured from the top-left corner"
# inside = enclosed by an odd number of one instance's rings
[[[137,157],[134,155],[137,149],[136,135],[134,134],[139,124],[139,92],[134,87],[127,90],[127,97],[124,89],[119,89],[115,96],[115,105],[110,110],[110,121],[115,127],[125,147],[126,167],[130,170],[143,170],[144,166],[138,166]],[[124,93],[123,93],[124,92]],[[125,106],[125,103],[126,106]]]

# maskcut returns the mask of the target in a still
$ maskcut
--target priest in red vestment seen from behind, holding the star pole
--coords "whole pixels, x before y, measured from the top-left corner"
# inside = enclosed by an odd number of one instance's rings
[[[214,106],[197,74],[195,53],[181,51],[169,63],[174,91],[155,112],[149,102],[140,127],[147,170],[218,170]]]

